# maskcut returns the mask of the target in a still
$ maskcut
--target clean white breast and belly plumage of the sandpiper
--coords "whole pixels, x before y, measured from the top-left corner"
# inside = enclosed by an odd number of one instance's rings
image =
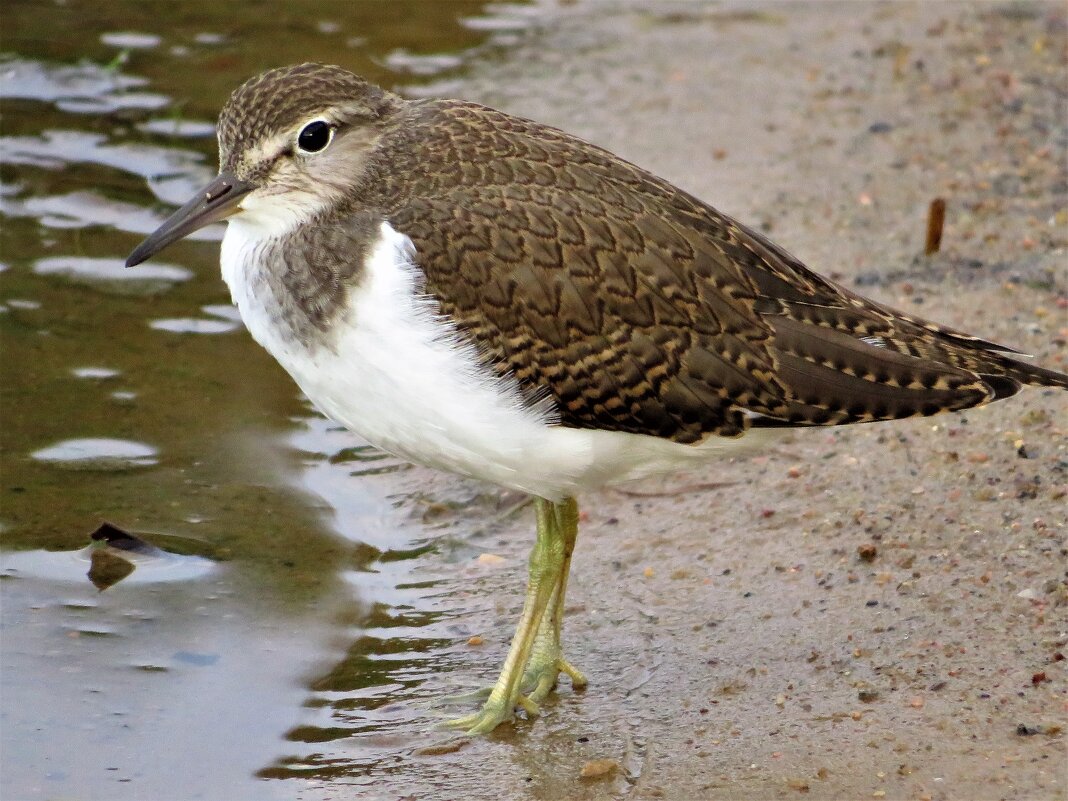
[[[488,375],[474,346],[420,294],[411,240],[388,223],[326,344],[298,342],[257,278],[262,231],[234,218],[222,245],[223,278],[245,325],[319,410],[383,451],[560,500],[737,447],[553,425],[551,405],[532,407],[515,381]]]

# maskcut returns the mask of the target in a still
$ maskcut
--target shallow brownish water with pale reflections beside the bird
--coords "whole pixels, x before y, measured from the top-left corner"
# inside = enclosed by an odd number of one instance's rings
[[[249,75],[327,60],[417,93],[535,17],[435,0],[4,17],[0,795],[292,798],[265,779],[391,770],[464,641],[441,578],[464,546],[444,552],[404,467],[244,332],[218,229],[122,262],[213,174],[211,121]],[[105,592],[87,575],[103,520],[158,549],[111,554],[134,569]]]

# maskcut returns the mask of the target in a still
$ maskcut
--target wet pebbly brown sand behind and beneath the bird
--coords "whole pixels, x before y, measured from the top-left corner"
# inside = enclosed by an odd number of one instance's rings
[[[583,136],[847,286],[1068,368],[1063,5],[553,13],[442,92]],[[590,688],[360,798],[1065,798],[1065,399],[798,433],[581,499],[565,637]],[[469,523],[504,561],[456,577],[484,642],[447,678],[488,682],[533,520]],[[580,778],[593,759],[615,769]]]

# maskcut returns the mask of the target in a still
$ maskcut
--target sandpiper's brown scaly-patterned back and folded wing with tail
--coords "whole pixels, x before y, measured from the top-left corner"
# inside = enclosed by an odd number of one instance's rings
[[[413,240],[441,311],[564,425],[693,442],[751,420],[885,420],[1068,386],[852,295],[566,134],[456,101],[410,113],[433,135],[402,123],[392,136],[410,141],[368,197]]]

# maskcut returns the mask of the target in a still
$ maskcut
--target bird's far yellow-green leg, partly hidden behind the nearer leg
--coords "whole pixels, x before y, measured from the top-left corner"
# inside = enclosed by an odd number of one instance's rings
[[[556,678],[566,673],[571,679],[571,687],[586,686],[586,677],[575,665],[564,659],[560,644],[560,631],[564,622],[564,598],[567,595],[567,578],[571,570],[571,553],[575,551],[575,540],[579,534],[579,506],[574,498],[553,505],[564,546],[564,559],[560,566],[560,575],[553,588],[549,608],[541,617],[537,637],[531,651],[530,662],[523,673],[522,687],[527,697],[535,704],[541,703],[549,691],[556,686]]]

